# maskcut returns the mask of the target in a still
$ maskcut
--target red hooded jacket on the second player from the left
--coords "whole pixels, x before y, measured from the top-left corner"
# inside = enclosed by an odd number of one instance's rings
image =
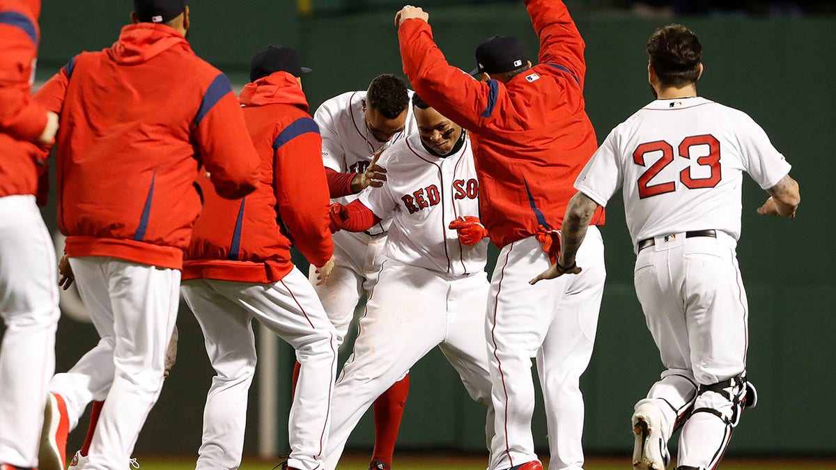
[[[232,86],[163,24],[122,28],[35,95],[59,113],[58,217],[69,257],[182,266],[201,166],[222,197],[252,192],[258,156]]]

